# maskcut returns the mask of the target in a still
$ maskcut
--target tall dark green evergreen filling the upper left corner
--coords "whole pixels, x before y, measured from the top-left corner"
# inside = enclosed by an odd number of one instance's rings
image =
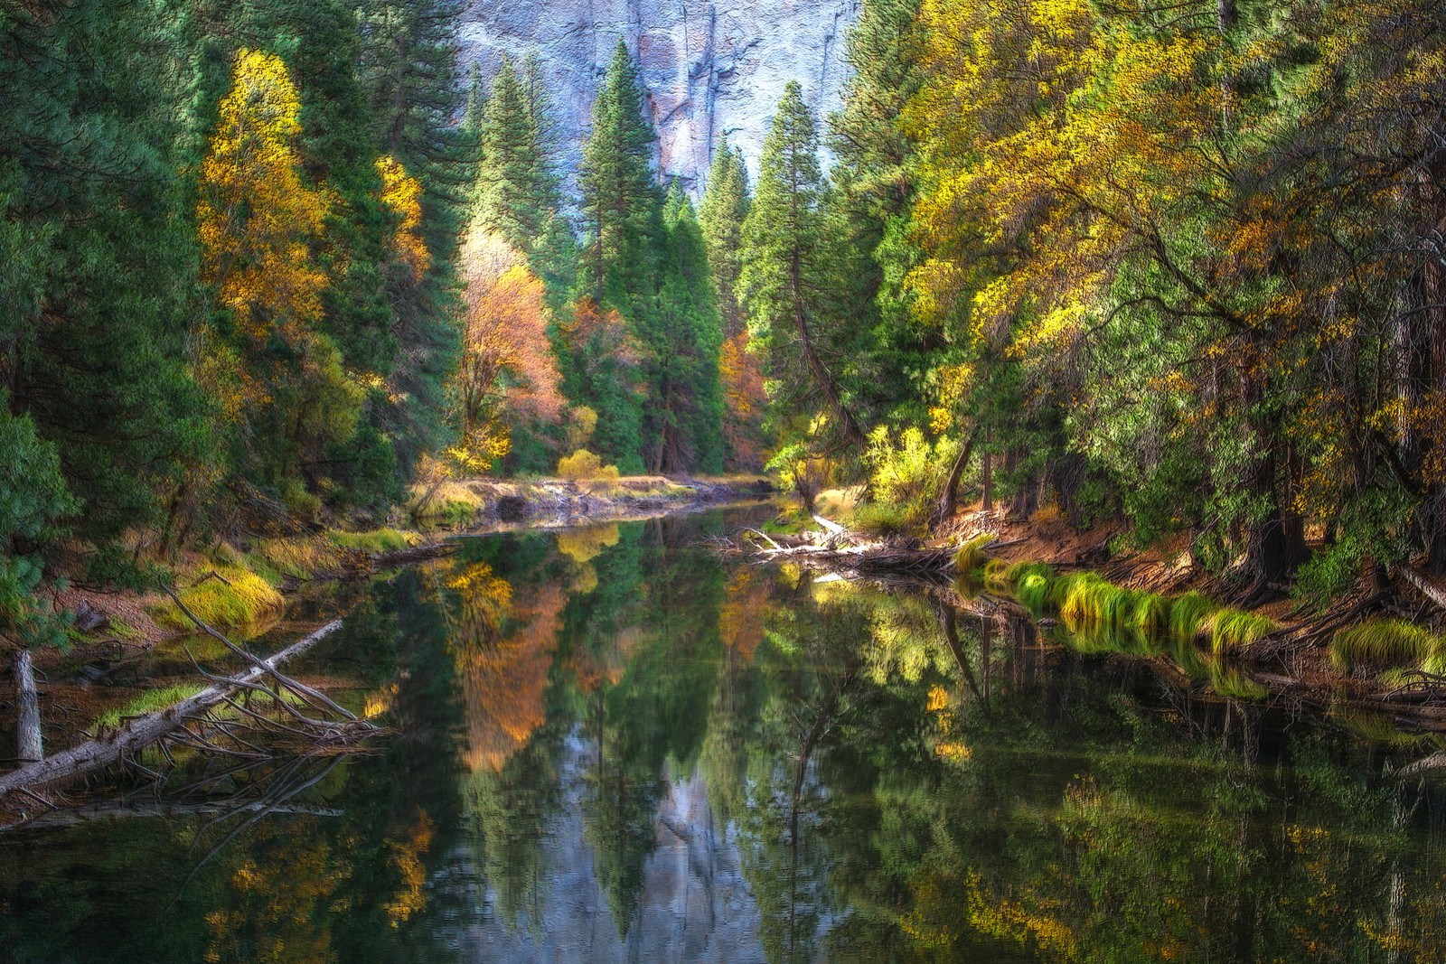
[[[210,474],[187,364],[201,314],[187,184],[192,52],[171,4],[0,12],[0,384],[54,445],[80,532],[117,575],[127,529],[179,522]]]

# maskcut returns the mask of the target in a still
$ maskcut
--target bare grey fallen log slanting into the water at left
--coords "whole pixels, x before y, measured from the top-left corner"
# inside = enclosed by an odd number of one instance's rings
[[[166,734],[181,728],[191,717],[220,705],[241,689],[253,688],[259,681],[273,675],[278,666],[305,653],[338,629],[341,629],[341,620],[327,623],[275,656],[257,659],[249,669],[217,679],[194,697],[175,702],[165,710],[139,717],[114,733],[106,733],[77,747],[56,753],[46,760],[29,763],[0,776],[0,799],[4,799],[14,791],[27,793],[36,788],[120,762],[127,754],[150,746]]]

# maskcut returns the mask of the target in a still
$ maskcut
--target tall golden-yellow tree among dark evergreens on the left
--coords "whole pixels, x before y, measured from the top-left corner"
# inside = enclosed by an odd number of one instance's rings
[[[364,396],[317,330],[327,275],[315,249],[331,205],[302,175],[299,116],[282,59],[237,52],[197,201],[202,277],[218,308],[197,377],[243,428],[262,481],[283,491],[299,491],[298,471],[354,434]]]

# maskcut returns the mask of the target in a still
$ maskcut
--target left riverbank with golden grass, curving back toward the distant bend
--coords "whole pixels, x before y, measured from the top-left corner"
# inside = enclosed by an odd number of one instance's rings
[[[674,480],[625,477],[609,481],[464,480],[438,494],[441,512],[398,509],[390,525],[372,529],[317,528],[268,538],[218,541],[182,554],[174,585],[187,608],[237,640],[278,627],[288,606],[308,587],[364,577],[447,555],[458,539],[519,529],[562,529],[704,510],[774,493],[765,477]],[[208,652],[197,627],[161,591],[97,591],[75,585],[49,591],[56,608],[75,613],[65,649],[35,653],[48,753],[94,731],[98,720],[121,720],[156,708],[204,679],[185,655]],[[200,642],[200,647],[195,645]],[[204,658],[204,656],[202,656]],[[344,681],[305,679],[327,689]],[[185,691],[185,692],[184,692]],[[0,688],[0,759],[12,739],[9,681]],[[0,769],[4,769],[0,766]]]

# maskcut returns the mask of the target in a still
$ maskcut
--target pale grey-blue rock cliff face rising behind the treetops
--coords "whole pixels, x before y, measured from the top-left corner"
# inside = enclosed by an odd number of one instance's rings
[[[694,191],[727,133],[756,172],[790,79],[823,120],[847,77],[847,29],[862,0],[479,0],[464,59],[490,77],[503,53],[535,48],[552,84],[562,163],[577,166],[593,97],[617,38],[638,52],[658,126],[659,166]]]

